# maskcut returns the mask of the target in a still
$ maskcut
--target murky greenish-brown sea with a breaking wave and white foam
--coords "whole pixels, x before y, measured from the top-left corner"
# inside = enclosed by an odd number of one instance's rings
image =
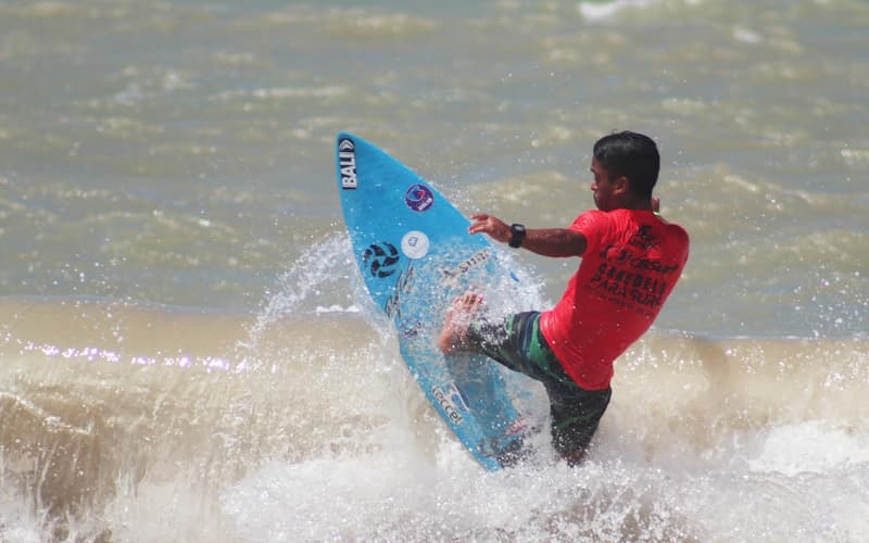
[[[0,541],[864,541],[867,27],[847,0],[0,1]],[[335,135],[544,227],[617,129],[657,140],[688,268],[588,460],[486,472],[367,302]],[[541,307],[577,265],[513,257]]]

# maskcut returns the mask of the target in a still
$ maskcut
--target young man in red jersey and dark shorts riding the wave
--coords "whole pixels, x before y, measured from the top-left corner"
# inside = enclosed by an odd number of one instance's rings
[[[526,229],[492,215],[471,216],[469,233],[543,256],[582,257],[550,311],[488,320],[479,294],[448,312],[439,346],[483,353],[543,383],[555,450],[570,464],[583,456],[609,404],[613,363],[651,326],[688,261],[688,233],[657,213],[652,190],[660,156],[642,134],[610,134],[594,144],[591,190],[597,210],[568,228]]]

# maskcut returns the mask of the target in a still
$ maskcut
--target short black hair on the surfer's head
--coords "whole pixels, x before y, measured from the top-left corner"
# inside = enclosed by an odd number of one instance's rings
[[[652,138],[628,130],[604,136],[594,143],[594,157],[610,178],[625,176],[631,192],[652,198],[660,171],[660,155]]]

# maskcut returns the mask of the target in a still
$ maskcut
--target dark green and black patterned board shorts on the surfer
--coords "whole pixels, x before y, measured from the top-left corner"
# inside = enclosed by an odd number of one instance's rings
[[[565,372],[540,332],[539,312],[471,323],[466,341],[467,349],[540,381],[550,399],[554,449],[565,457],[585,451],[612,389],[584,390]]]

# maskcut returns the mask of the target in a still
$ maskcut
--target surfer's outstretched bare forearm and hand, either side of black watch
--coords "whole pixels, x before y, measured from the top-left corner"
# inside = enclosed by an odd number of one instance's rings
[[[493,240],[506,243],[513,232],[509,225],[486,213],[470,216],[468,233],[487,233]],[[582,256],[585,252],[585,237],[567,228],[528,228],[522,248],[543,256]]]

